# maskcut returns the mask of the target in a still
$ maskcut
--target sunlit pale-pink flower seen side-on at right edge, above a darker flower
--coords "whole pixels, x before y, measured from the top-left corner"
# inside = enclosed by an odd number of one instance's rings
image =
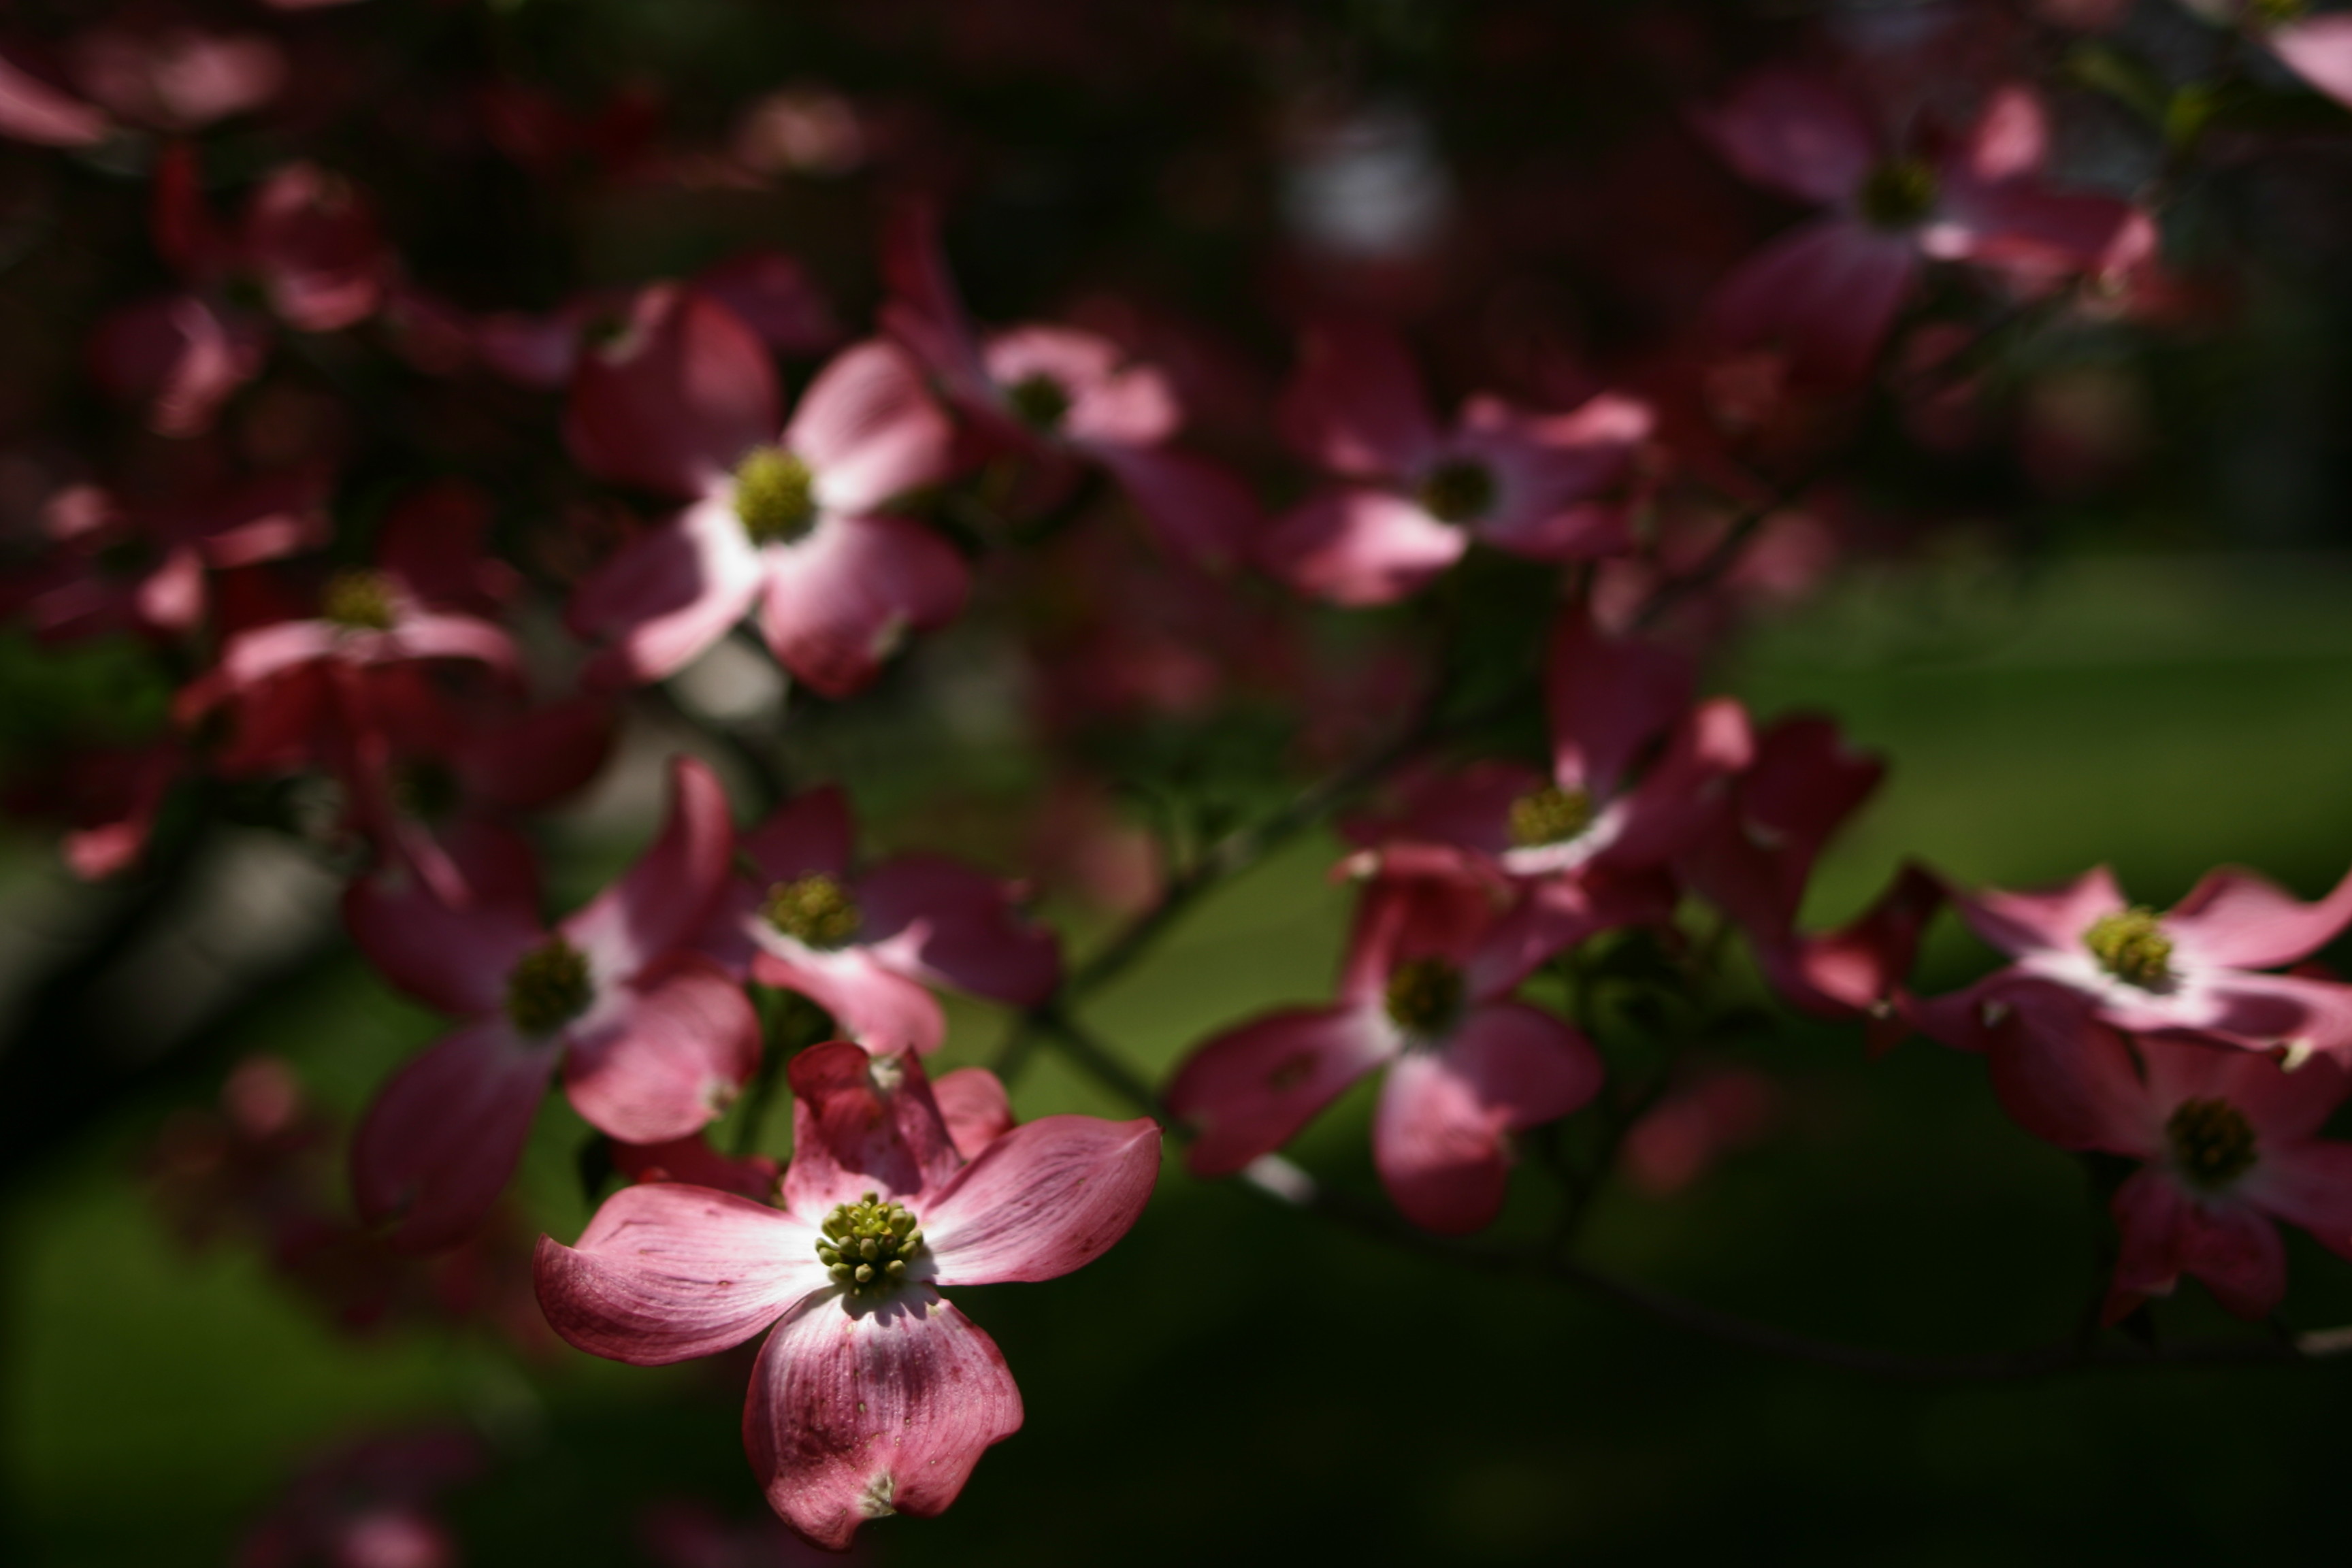
[[[2352,1051],[2352,985],[2260,973],[2317,952],[2352,924],[2352,875],[2303,903],[2225,867],[2164,914],[2129,903],[2107,867],[2039,893],[1955,891],[1952,903],[2011,964],[1915,1006],[1919,1027],[1950,1046],[1983,1048],[2011,1011],[2082,1001],[2098,1023],[2133,1034],[2284,1048],[2288,1060]]]

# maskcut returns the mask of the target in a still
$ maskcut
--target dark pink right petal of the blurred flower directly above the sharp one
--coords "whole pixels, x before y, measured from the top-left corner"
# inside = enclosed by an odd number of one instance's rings
[[[858,877],[858,943],[920,980],[1030,1006],[1061,983],[1061,943],[1014,893],[946,856],[898,856]]]

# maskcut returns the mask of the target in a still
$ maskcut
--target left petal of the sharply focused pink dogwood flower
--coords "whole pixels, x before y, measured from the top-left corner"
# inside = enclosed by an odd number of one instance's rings
[[[532,1262],[548,1326],[633,1366],[741,1345],[833,1284],[802,1220],[680,1182],[621,1187],[579,1246],[541,1237]]]

